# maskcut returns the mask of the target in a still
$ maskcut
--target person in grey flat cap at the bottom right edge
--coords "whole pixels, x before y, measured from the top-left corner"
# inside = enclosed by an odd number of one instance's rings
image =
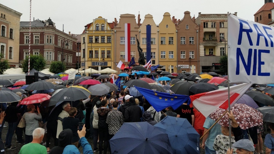
[[[232,144],[232,147],[236,148],[236,153],[239,154],[254,154],[254,144],[249,139],[240,139]],[[232,154],[232,149],[227,149],[227,154]]]

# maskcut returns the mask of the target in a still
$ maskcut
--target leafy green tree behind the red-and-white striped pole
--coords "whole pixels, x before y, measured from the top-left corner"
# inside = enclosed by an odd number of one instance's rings
[[[30,55],[30,70],[35,69],[37,71],[41,71],[46,66],[46,60],[42,54],[39,55]],[[29,67],[29,56],[26,57],[24,62],[22,63],[23,72],[28,72]]]

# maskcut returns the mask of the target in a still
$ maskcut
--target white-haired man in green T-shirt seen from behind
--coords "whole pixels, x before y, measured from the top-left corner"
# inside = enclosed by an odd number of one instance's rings
[[[45,129],[43,128],[36,128],[34,129],[32,135],[33,140],[31,143],[23,145],[21,147],[19,154],[29,154],[29,153],[37,153],[37,154],[46,154],[47,148],[40,143],[43,141],[45,134]]]

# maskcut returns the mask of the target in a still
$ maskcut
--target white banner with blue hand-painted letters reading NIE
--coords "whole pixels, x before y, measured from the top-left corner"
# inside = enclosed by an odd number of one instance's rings
[[[274,27],[229,14],[229,82],[274,83],[273,37]]]

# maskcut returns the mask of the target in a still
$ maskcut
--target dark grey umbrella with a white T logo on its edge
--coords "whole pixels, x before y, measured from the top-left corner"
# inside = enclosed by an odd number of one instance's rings
[[[68,87],[65,89],[62,89],[58,92],[58,95],[54,95],[51,97],[51,100],[54,100],[56,102],[61,101],[76,101],[80,99],[86,99],[90,95],[90,92],[88,92],[85,88],[77,88],[77,87]]]

